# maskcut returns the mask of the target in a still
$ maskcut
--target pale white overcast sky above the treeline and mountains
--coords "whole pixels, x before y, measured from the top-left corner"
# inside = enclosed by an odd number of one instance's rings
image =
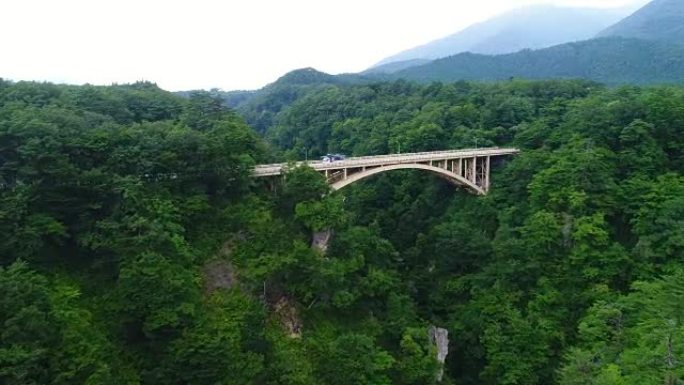
[[[648,0],[0,0],[0,77],[254,89],[358,72],[511,8]]]

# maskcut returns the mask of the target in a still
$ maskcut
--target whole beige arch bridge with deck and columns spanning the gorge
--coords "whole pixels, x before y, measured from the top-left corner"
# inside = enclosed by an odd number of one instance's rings
[[[490,168],[492,159],[520,152],[515,148],[478,148],[469,150],[448,150],[391,154],[347,158],[335,162],[299,162],[296,166],[308,165],[325,175],[334,190],[373,175],[393,171],[416,169],[436,174],[455,186],[464,187],[478,195],[485,195],[491,186]],[[291,165],[290,165],[291,166]],[[264,164],[254,168],[252,176],[268,178],[283,175],[286,163]]]

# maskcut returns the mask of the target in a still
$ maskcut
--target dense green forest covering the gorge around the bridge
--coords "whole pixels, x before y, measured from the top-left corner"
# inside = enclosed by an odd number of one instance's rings
[[[0,383],[682,383],[684,89],[302,90],[243,118],[209,92],[0,80]],[[475,146],[522,150],[484,197],[420,171],[250,178]]]

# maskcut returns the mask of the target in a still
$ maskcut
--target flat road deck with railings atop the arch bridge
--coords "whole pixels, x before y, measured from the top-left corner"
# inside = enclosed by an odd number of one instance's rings
[[[448,150],[448,151],[432,151],[432,152],[417,152],[407,154],[391,154],[391,155],[377,155],[377,156],[360,156],[354,158],[347,158],[345,160],[335,162],[309,161],[297,162],[296,165],[307,164],[314,170],[343,170],[349,168],[359,167],[374,167],[374,166],[388,166],[395,164],[419,163],[429,161],[443,161],[462,158],[473,157],[487,157],[487,156],[501,156],[517,154],[520,150],[515,148],[478,148],[467,150]],[[287,167],[287,163],[263,164],[254,168],[253,175],[255,177],[267,177],[281,175],[283,169]]]

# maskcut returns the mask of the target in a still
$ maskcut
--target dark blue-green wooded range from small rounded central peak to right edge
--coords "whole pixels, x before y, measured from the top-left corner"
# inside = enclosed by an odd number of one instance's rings
[[[584,79],[612,87],[684,85],[684,45],[609,37],[506,55],[462,53],[429,61],[396,62],[361,74],[329,75],[312,68],[294,70],[256,91],[217,92],[259,133],[278,115],[316,89],[392,80],[419,83]],[[384,73],[386,72],[386,73]]]

